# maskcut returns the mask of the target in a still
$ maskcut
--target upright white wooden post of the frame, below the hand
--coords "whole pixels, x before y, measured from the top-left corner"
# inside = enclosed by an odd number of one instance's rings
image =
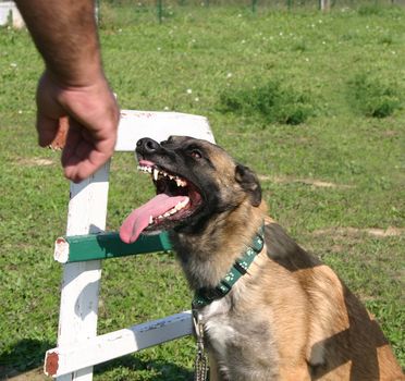
[[[79,184],[71,183],[66,235],[98,233],[106,229],[108,162]],[[63,267],[58,346],[69,346],[97,335],[98,293],[101,262],[68,263]],[[58,378],[58,381],[91,381],[93,367]]]

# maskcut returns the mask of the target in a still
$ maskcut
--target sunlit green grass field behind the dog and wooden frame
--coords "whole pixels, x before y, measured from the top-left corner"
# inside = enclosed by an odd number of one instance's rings
[[[172,7],[164,14],[158,25],[152,9],[101,5],[103,61],[121,106],[208,116],[218,143],[263,179],[271,214],[365,300],[405,366],[405,11],[259,8],[254,15],[237,7]],[[65,230],[69,186],[60,155],[36,145],[42,64],[29,36],[1,28],[0,45],[1,379],[39,366],[56,344],[61,268],[52,242]],[[308,97],[314,112],[299,124],[268,118],[271,109],[263,116],[256,90],[273,83],[277,95]],[[241,101],[240,90],[248,94],[241,105],[251,107],[224,112],[224,94]],[[364,111],[386,97],[395,107],[385,118]],[[116,230],[151,188],[132,155],[113,158],[111,177],[108,229]],[[389,226],[400,235],[367,233]],[[189,302],[171,255],[106,261],[99,332]],[[184,339],[97,367],[95,380],[188,380],[194,355]]]

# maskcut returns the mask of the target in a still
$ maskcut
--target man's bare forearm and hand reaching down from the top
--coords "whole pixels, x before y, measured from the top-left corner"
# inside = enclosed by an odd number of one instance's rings
[[[91,0],[17,0],[46,70],[37,89],[39,144],[70,130],[62,153],[66,177],[81,181],[113,153],[119,109],[105,77]]]

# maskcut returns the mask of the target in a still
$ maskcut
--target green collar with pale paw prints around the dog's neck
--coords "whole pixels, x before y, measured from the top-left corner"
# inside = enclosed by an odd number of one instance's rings
[[[242,257],[233,263],[231,270],[218,285],[214,288],[199,288],[196,291],[193,299],[193,308],[196,309],[208,306],[213,300],[224,297],[240,278],[246,274],[249,266],[263,248],[263,225],[261,225],[254,236],[251,245],[248,246]]]

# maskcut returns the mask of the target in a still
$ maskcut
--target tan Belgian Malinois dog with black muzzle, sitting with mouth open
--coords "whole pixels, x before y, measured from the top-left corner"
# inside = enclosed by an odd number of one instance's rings
[[[378,323],[338,275],[272,219],[256,174],[222,148],[137,143],[157,196],[120,235],[167,230],[204,330],[210,380],[404,380]]]

